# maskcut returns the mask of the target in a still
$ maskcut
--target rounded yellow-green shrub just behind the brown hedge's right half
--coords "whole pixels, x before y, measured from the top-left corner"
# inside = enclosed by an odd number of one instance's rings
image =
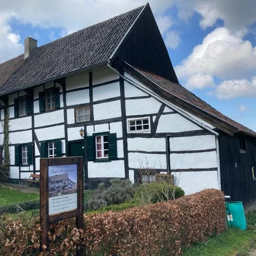
[[[184,190],[175,185],[149,183],[138,186],[134,198],[136,198],[140,205],[145,205],[180,198],[184,194]]]

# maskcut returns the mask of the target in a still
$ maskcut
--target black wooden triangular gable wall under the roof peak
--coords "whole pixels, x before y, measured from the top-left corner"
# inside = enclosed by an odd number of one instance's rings
[[[116,64],[122,65],[122,61],[126,61],[132,66],[178,83],[169,53],[149,5],[145,7],[127,40],[122,43],[116,57],[119,60]]]

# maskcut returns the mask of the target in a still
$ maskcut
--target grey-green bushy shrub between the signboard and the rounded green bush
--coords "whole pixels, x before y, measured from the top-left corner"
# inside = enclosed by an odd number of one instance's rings
[[[131,180],[112,179],[111,186],[106,188],[104,183],[99,183],[98,188],[93,192],[89,200],[89,209],[99,209],[111,204],[122,204],[133,198],[136,184]]]

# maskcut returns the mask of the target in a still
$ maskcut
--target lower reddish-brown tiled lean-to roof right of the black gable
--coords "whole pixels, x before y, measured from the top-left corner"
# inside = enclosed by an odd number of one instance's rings
[[[186,102],[189,102],[192,105],[195,105],[196,107],[208,112],[209,114],[218,117],[219,119],[234,125],[238,128],[237,132],[241,132],[244,134],[248,134],[251,136],[256,136],[256,132],[253,130],[245,127],[244,125],[239,124],[238,122],[230,119],[229,117],[225,116],[215,108],[212,108],[209,104],[204,102],[202,99],[200,99],[198,96],[196,96],[194,93],[191,93],[189,90],[181,86],[180,84],[172,83],[171,81],[164,79],[161,76],[157,76],[155,74],[149,73],[145,70],[140,70],[138,68],[135,68],[138,72],[143,74],[145,77],[153,81],[155,84],[162,87],[167,92],[173,94],[174,96],[179,97],[180,99],[183,99]]]

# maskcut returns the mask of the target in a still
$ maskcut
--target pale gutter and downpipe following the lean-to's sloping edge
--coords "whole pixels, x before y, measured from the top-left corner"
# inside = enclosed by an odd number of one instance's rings
[[[182,116],[185,116],[187,119],[189,119],[190,121],[194,122],[195,124],[197,124],[198,126],[206,129],[207,131],[211,132],[212,134],[215,135],[215,140],[216,140],[216,151],[217,151],[217,173],[218,173],[218,189],[221,190],[221,168],[220,168],[220,154],[219,154],[219,141],[218,141],[218,137],[219,134],[218,132],[212,130],[211,128],[209,128],[208,126],[202,124],[201,122],[198,122],[196,119],[194,119],[193,117],[189,116],[188,114],[184,113],[183,111],[181,111],[180,109],[178,109],[175,105],[173,105],[172,103],[166,101],[165,99],[162,99],[160,96],[158,96],[156,93],[154,93],[151,90],[148,90],[147,87],[144,87],[140,84],[135,83],[134,81],[131,81],[130,79],[126,78],[125,76],[122,76],[117,70],[115,70],[113,67],[111,67],[110,65],[111,60],[108,59],[108,68],[110,68],[111,70],[113,70],[118,76],[120,76],[122,79],[124,79],[125,81],[127,81],[129,84],[134,85],[135,87],[137,87],[138,89],[142,90],[143,92],[151,95],[153,98],[159,100],[160,102],[164,103],[166,106],[169,106],[170,108],[174,109],[175,111],[177,111],[177,113],[180,113]],[[168,135],[167,135],[168,136]],[[166,137],[166,141],[167,141],[167,137]],[[169,165],[167,167],[167,173],[168,173],[168,169],[169,169]],[[170,170],[169,170],[170,171]]]

